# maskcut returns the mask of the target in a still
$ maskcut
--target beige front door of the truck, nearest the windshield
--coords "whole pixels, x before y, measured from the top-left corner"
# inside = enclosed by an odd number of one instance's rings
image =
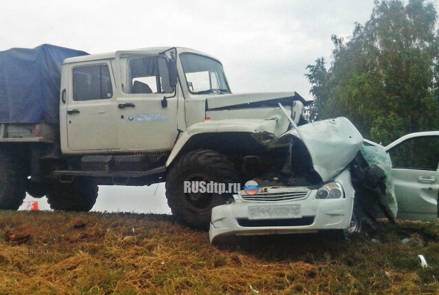
[[[167,58],[119,53],[118,60],[119,147],[123,151],[171,150],[178,134],[178,95],[169,84]]]

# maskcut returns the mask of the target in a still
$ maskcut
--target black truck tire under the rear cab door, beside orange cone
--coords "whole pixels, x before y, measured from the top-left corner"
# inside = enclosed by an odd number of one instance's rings
[[[75,178],[71,183],[57,182],[47,193],[50,208],[62,211],[90,211],[99,187],[88,178]]]

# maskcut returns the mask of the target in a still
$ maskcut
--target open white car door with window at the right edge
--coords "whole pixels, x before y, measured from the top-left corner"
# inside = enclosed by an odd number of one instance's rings
[[[438,217],[439,135],[413,137],[388,150],[398,219]]]

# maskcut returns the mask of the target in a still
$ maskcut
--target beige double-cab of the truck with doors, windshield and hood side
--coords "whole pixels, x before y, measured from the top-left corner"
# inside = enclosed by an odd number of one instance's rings
[[[236,107],[270,97],[232,95],[219,60],[192,49],[68,58],[61,88],[61,149],[66,155],[169,154],[180,133],[206,118],[265,120],[273,115]],[[292,94],[272,95],[279,96]],[[284,124],[279,129],[285,131],[287,120],[280,117]]]

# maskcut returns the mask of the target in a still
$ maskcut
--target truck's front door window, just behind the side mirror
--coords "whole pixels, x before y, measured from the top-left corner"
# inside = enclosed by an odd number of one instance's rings
[[[130,94],[173,93],[169,85],[167,60],[158,56],[139,56],[128,59],[128,88]]]

